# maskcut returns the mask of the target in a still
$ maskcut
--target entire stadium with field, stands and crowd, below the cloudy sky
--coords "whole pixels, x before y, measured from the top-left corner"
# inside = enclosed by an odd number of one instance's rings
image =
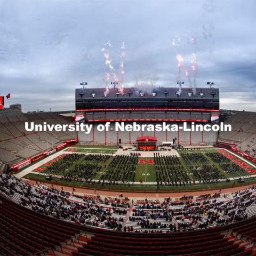
[[[212,86],[83,87],[71,113],[2,109],[1,255],[254,255],[256,113],[223,111],[220,97]],[[28,132],[25,122],[92,130]]]

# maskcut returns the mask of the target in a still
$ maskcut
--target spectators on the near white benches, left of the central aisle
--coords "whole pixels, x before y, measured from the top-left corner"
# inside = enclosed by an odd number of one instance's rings
[[[100,197],[84,197],[76,201],[75,197],[63,190],[34,187],[7,174],[0,176],[0,190],[36,212],[57,219],[117,230],[122,229],[127,207],[130,206],[127,202],[118,201],[117,204],[121,206],[119,208],[107,198],[102,200]]]

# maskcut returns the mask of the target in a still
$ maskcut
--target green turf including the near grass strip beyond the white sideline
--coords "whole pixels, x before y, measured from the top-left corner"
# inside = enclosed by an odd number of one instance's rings
[[[117,147],[111,146],[72,146],[63,149],[63,154],[66,155],[68,151],[76,153],[78,156],[75,161],[66,161],[62,158],[54,158],[51,161],[42,164],[38,170],[27,174],[23,178],[45,181],[45,175],[52,174],[53,181],[62,185],[71,187],[91,187],[97,188],[114,188],[114,189],[143,189],[156,190],[156,181],[161,181],[161,186],[158,190],[199,190],[210,188],[222,188],[236,186],[237,181],[218,181],[205,182],[205,180],[219,180],[227,178],[239,178],[241,176],[250,176],[249,172],[243,170],[230,159],[222,156],[215,149],[202,150],[179,150],[180,157],[172,158],[163,156],[159,158],[153,157],[139,157],[138,162],[133,168],[129,169],[131,159],[122,158],[115,162],[115,155]],[[84,153],[84,154],[83,154]],[[87,159],[88,154],[107,154],[104,161],[101,158]],[[120,156],[120,155],[119,155]],[[94,155],[93,155],[94,157]],[[95,155],[96,157],[96,155]],[[100,156],[102,157],[102,156]],[[157,161],[157,162],[154,162]],[[174,161],[174,162],[173,162]],[[52,165],[56,170],[52,167]],[[61,166],[61,168],[59,167]],[[63,167],[62,167],[63,166]],[[90,172],[83,177],[82,174],[77,175],[77,170],[84,170],[90,166]],[[121,166],[121,167],[118,167]],[[84,168],[84,169],[83,169]],[[203,170],[201,170],[203,169]],[[206,170],[206,171],[205,171]],[[205,174],[205,172],[207,172]],[[78,172],[79,173],[79,172]],[[60,179],[60,175],[72,174],[74,180],[67,181]],[[54,177],[55,175],[55,177]],[[84,178],[84,180],[82,180]],[[89,179],[89,180],[88,180]],[[56,181],[57,180],[57,181]],[[96,180],[92,185],[91,180]],[[111,181],[112,183],[102,184],[100,180]],[[201,183],[195,183],[194,181]],[[255,182],[256,178],[246,179],[246,183]],[[122,181],[122,183],[118,183]],[[133,184],[133,181],[137,182]],[[114,182],[114,183],[113,183]],[[127,188],[127,183],[130,187]],[[145,182],[154,182],[152,184]]]

